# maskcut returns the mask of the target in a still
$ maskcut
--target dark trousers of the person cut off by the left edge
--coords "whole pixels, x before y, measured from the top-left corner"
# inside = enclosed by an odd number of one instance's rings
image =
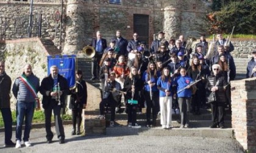
[[[4,120],[4,142],[11,143],[12,139],[12,112],[10,108],[0,108]]]

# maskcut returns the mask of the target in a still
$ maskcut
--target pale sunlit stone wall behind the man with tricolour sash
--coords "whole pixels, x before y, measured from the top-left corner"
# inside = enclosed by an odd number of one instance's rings
[[[12,84],[23,73],[25,64],[32,65],[33,73],[40,81],[47,76],[47,53],[38,38],[18,39],[0,43],[6,49],[1,53],[0,59],[5,61],[5,72],[12,79]],[[11,107],[15,109],[16,99],[11,92]],[[38,94],[41,98],[41,94]]]

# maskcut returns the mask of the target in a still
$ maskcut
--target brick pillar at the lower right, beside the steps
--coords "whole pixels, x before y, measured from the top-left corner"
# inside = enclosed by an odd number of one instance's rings
[[[256,152],[256,78],[231,81],[232,128],[236,140]]]

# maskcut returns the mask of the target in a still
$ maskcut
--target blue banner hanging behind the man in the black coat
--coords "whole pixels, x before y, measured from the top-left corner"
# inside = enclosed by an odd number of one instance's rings
[[[49,55],[48,60],[48,75],[50,75],[50,67],[57,66],[59,74],[68,80],[69,88],[73,89],[76,86],[76,55]]]

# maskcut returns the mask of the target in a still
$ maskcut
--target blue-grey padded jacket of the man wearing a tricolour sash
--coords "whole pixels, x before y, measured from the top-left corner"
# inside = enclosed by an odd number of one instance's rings
[[[35,92],[38,92],[40,87],[39,78],[35,77],[35,75],[32,73],[29,75],[29,77],[27,77],[27,80],[29,80],[29,82],[35,87]],[[33,96],[32,92],[30,92],[26,84],[21,81],[20,77],[16,78],[12,87],[12,92],[18,101],[24,101],[26,103],[35,102],[35,97]]]

